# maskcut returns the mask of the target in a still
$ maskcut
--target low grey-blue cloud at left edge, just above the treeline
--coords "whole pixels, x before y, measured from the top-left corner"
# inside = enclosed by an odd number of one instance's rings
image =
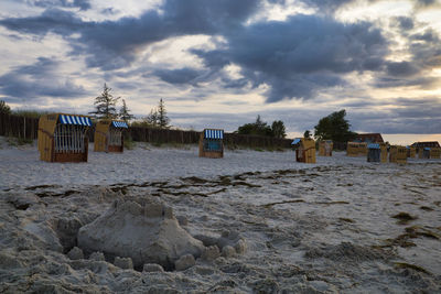
[[[0,76],[0,94],[9,100],[31,101],[42,97],[74,98],[85,94],[83,87],[57,76],[58,63],[40,57],[35,64],[19,66]]]

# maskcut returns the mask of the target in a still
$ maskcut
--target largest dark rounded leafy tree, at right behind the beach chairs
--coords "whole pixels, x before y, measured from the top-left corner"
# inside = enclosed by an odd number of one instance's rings
[[[332,112],[322,118],[314,127],[314,137],[318,140],[332,140],[334,142],[347,142],[356,137],[349,131],[351,124],[345,119],[346,110]]]

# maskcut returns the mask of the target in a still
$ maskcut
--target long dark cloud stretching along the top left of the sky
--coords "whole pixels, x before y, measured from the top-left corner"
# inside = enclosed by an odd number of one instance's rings
[[[87,65],[112,69],[127,66],[147,44],[172,36],[217,34],[233,30],[258,8],[259,0],[166,0],[161,10],[140,18],[84,22],[73,12],[49,9],[39,17],[4,19],[0,25],[44,36],[54,32],[68,39],[72,54],[87,55]],[[73,37],[77,33],[79,37]]]

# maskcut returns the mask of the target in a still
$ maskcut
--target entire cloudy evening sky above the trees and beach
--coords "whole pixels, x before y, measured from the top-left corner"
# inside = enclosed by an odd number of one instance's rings
[[[441,141],[441,0],[1,0],[0,99],[93,111],[104,83],[137,118],[289,137],[345,109],[391,143]],[[120,106],[120,105],[119,105]]]

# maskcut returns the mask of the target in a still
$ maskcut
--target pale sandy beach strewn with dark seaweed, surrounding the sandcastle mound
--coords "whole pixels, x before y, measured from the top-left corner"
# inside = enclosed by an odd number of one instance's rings
[[[90,145],[87,163],[47,163],[2,138],[0,291],[440,293],[440,160],[335,152],[301,164],[292,151],[251,150],[209,160],[196,146],[148,144],[123,154]],[[106,211],[151,203],[203,243],[194,263],[132,269],[78,243]]]

